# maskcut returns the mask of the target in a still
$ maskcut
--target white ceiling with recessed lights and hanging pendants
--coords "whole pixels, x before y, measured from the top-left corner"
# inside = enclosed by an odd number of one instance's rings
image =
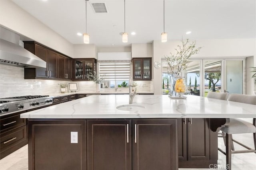
[[[12,0],[72,44],[82,44],[85,0]],[[94,13],[90,3],[105,3],[108,13]],[[130,46],[160,40],[163,0],[126,0],[128,43],[122,43],[124,0],[89,0],[87,33],[98,47]],[[131,35],[131,32],[136,35]],[[168,40],[256,38],[256,0],[165,0]],[[192,31],[186,35],[187,31]]]

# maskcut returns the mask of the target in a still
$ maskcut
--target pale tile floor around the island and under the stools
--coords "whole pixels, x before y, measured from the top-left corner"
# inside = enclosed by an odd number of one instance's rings
[[[233,135],[233,138],[253,148],[252,134]],[[224,150],[223,139],[218,140],[218,145]],[[242,149],[234,143],[235,149]],[[218,169],[224,170],[226,157],[221,152],[218,152]],[[209,168],[210,169],[210,168]],[[209,170],[198,169],[198,170]],[[16,150],[12,154],[0,160],[0,170],[28,170],[28,145]],[[192,168],[179,168],[179,170],[196,170]],[[256,154],[242,153],[232,154],[232,170],[256,170]]]

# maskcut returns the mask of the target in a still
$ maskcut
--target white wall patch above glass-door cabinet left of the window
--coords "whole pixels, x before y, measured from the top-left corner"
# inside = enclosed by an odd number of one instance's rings
[[[73,58],[97,59],[96,46],[94,44],[75,44]]]

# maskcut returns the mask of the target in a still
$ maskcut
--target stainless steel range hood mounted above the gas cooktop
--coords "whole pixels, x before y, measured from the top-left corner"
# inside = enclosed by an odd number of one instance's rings
[[[0,27],[0,64],[43,67],[46,62],[19,45],[20,35]]]

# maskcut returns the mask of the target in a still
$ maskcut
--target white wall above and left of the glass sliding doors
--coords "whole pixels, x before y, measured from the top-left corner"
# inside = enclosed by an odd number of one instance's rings
[[[193,40],[190,40],[193,41]],[[174,53],[177,45],[180,45],[180,41],[168,41],[162,43],[160,41],[154,41],[153,43],[153,63],[155,61],[161,61],[165,55],[169,55],[170,52]],[[196,40],[196,47],[203,47],[199,54],[191,57],[196,58],[239,58],[254,56],[254,62],[256,60],[256,41],[255,39],[200,39]],[[154,94],[162,94],[161,90],[161,69],[154,69]],[[252,82],[248,82],[252,86]],[[252,94],[252,90],[247,92]]]

